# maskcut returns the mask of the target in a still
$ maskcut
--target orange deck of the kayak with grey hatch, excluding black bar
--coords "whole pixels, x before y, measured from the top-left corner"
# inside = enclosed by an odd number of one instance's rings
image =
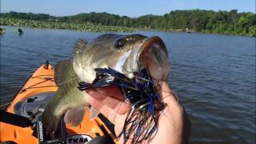
[[[54,68],[50,65],[42,65],[22,86],[22,89],[14,97],[6,111],[26,118],[30,118],[32,115],[40,115],[57,90],[58,86],[54,82]],[[38,138],[35,138],[32,133],[31,127],[22,128],[0,122],[0,142],[38,143]],[[114,134],[102,122],[101,118],[90,121],[89,109],[86,110],[86,114],[79,126],[71,127],[66,125],[66,133],[69,135],[68,138],[78,134],[88,135],[91,138],[106,136],[111,138],[114,143],[117,143]],[[66,142],[68,143],[68,141]]]

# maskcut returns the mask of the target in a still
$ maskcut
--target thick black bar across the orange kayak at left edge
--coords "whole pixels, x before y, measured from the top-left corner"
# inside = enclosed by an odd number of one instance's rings
[[[22,117],[17,114],[8,113],[4,110],[0,110],[0,122],[6,122],[8,124],[20,127],[33,126],[29,118]]]

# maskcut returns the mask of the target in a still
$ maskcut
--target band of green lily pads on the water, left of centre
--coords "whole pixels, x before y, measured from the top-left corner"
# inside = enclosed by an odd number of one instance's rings
[[[27,26],[33,28],[81,30],[90,32],[134,32],[137,29],[126,26],[98,26],[94,24],[58,22],[58,21],[35,21],[27,19],[0,18],[1,26]]]

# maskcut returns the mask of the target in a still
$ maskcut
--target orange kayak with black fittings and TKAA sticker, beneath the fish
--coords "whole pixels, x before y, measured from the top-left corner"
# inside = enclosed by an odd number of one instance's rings
[[[90,110],[79,126],[60,122],[57,139],[46,138],[40,121],[43,110],[54,97],[58,86],[54,82],[54,67],[46,62],[34,71],[5,111],[1,113],[0,142],[14,143],[92,143],[107,139],[117,143],[113,127],[102,115],[90,120]],[[96,141],[95,141],[96,142]],[[98,141],[101,142],[101,141]]]

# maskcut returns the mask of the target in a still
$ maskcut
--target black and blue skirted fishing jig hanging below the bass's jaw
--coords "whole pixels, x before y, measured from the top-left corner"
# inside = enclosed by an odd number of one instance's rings
[[[141,143],[154,134],[160,112],[165,109],[166,104],[160,99],[158,85],[150,76],[150,72],[141,67],[134,73],[134,78],[128,78],[111,68],[97,68],[95,71],[94,82],[80,82],[79,90],[115,85],[122,90],[132,107],[118,138],[123,136],[124,143],[129,139],[132,139],[132,143]]]

